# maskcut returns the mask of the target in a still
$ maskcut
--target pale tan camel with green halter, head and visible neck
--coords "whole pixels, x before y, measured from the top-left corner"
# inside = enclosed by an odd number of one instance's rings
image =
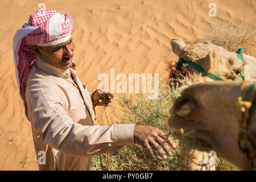
[[[196,79],[200,82],[256,80],[256,58],[241,53],[241,49],[230,52],[209,42],[185,44],[180,38],[172,38],[171,45],[179,56],[179,62],[178,65],[170,64],[170,78],[178,75],[180,70],[186,76],[189,73],[201,73],[202,77]]]

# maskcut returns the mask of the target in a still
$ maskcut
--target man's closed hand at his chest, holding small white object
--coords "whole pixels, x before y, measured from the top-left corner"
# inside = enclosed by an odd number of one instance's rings
[[[105,94],[105,99],[104,99],[104,94]],[[112,98],[110,97],[114,97],[113,94],[109,93],[106,90],[103,89],[99,89],[97,90],[94,94],[93,94],[93,105],[97,105],[97,106],[109,106],[110,102],[113,102]]]

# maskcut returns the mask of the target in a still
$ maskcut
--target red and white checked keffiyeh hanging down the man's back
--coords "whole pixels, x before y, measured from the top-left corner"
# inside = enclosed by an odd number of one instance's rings
[[[32,65],[38,57],[31,45],[55,46],[71,38],[73,19],[67,14],[48,9],[30,15],[28,23],[20,28],[13,40],[13,55],[20,96],[27,116],[26,86]]]

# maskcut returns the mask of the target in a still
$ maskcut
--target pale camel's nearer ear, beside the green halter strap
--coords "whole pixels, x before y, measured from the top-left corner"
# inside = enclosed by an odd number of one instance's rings
[[[217,51],[215,49],[211,49],[208,55],[200,60],[200,66],[203,67],[206,72],[210,73],[216,63],[216,57]]]

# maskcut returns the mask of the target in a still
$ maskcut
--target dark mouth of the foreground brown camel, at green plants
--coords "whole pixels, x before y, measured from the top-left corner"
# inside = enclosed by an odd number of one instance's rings
[[[205,137],[200,137],[197,135],[197,131],[191,130],[183,134],[174,132],[173,134],[177,139],[180,140],[180,144],[186,148],[195,148],[199,151],[210,151],[213,150],[213,145],[207,140],[203,139]]]

